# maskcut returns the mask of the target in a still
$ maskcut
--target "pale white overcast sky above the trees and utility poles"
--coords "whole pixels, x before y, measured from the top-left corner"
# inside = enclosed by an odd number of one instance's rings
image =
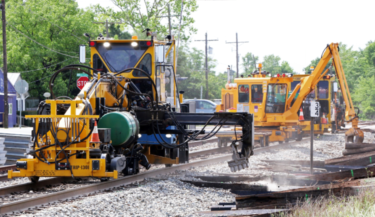
[[[79,7],[99,3],[114,7],[109,0],[77,0]],[[364,48],[375,40],[375,0],[198,0],[198,9],[192,13],[197,33],[191,36],[192,47],[204,49],[207,32],[217,59],[216,72],[235,65],[235,41],[248,41],[238,46],[239,72],[241,56],[247,52],[259,56],[278,55],[289,62],[297,73],[320,57],[325,45],[343,42],[353,49]],[[280,63],[281,63],[280,61]]]

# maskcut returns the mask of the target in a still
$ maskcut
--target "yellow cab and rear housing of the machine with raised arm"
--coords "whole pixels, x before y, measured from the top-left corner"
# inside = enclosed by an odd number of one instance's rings
[[[268,114],[282,114],[286,110],[287,90],[292,74],[275,74],[255,70],[247,78],[235,78],[221,89],[222,104],[217,111],[230,107],[237,112],[254,114],[254,121],[266,121]],[[271,75],[271,76],[270,76]]]

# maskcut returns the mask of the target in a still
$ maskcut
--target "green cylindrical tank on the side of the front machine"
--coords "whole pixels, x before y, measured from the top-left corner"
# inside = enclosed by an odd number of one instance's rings
[[[104,114],[97,123],[97,127],[110,128],[110,139],[113,146],[125,144],[139,133],[138,120],[126,111]]]

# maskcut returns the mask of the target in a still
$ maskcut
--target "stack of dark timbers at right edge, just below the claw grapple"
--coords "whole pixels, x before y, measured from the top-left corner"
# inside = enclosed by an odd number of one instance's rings
[[[375,163],[375,143],[345,143],[342,155],[324,162],[331,165],[370,165]]]

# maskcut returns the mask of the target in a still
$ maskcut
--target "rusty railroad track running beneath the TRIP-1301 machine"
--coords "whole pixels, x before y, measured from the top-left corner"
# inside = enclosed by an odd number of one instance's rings
[[[267,151],[271,149],[282,148],[288,145],[299,144],[307,141],[309,138],[304,138],[301,141],[293,141],[288,143],[276,144],[267,147],[254,149],[254,153]],[[222,149],[230,149],[230,146],[221,147]],[[204,150],[206,152],[215,152],[217,148]],[[200,152],[200,154],[198,154]],[[204,155],[202,151],[190,153],[193,155]],[[71,197],[89,194],[100,190],[124,186],[133,182],[142,181],[144,178],[153,177],[160,174],[172,173],[175,170],[188,169],[191,166],[204,166],[208,164],[218,163],[224,160],[230,160],[231,154],[202,159],[185,164],[173,165],[171,167],[164,167],[140,172],[135,175],[123,176],[117,179],[111,179],[105,182],[98,182],[92,179],[83,179],[74,181],[71,177],[56,177],[40,180],[37,183],[22,183],[0,188],[0,214],[10,213],[12,211],[25,210],[29,207],[40,205],[47,205],[53,201],[64,200]],[[61,184],[62,183],[62,184]],[[56,186],[58,189],[55,189]],[[31,189],[31,191],[30,191]],[[38,190],[41,189],[41,190]],[[21,191],[24,191],[22,193]],[[55,192],[53,192],[55,191]]]

